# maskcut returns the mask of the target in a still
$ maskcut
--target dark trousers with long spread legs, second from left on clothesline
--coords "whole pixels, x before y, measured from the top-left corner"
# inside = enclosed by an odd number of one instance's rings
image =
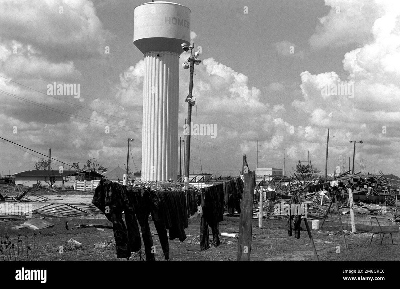
[[[164,257],[166,260],[170,259],[170,246],[163,218],[163,207],[160,205],[158,196],[150,189],[132,188],[128,193],[132,194],[136,217],[138,218],[140,229],[142,231],[146,261],[155,261],[153,238],[148,222],[150,214],[154,226],[156,227],[158,238],[160,239]]]

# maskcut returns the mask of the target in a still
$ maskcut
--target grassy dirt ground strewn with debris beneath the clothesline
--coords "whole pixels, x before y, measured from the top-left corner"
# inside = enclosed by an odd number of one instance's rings
[[[60,194],[59,194],[60,195]],[[77,196],[76,193],[66,193],[60,198],[60,202],[85,202],[90,203],[92,194]],[[56,198],[56,197],[54,197]],[[68,198],[71,198],[69,200]],[[83,198],[83,199],[82,199]],[[43,205],[44,203],[38,203]],[[36,205],[36,204],[35,204]],[[389,210],[390,211],[390,210]],[[395,245],[391,245],[390,235],[386,235],[383,244],[380,244],[378,236],[374,237],[372,244],[369,245],[372,234],[370,231],[370,215],[356,214],[356,234],[346,233],[347,249],[344,247],[340,231],[338,216],[328,217],[324,227],[320,230],[312,230],[312,237],[316,246],[320,261],[400,261],[400,237],[398,233],[393,234]],[[390,221],[391,213],[377,216],[381,226],[384,229],[390,229],[398,232],[398,223]],[[0,222],[0,239],[9,240],[16,243],[18,234],[28,236],[28,241],[23,239],[24,243],[31,248],[38,247],[37,257],[34,261],[126,261],[126,259],[117,259],[115,247],[111,249],[96,248],[96,243],[114,241],[112,229],[100,231],[96,228],[76,228],[79,223],[102,223],[110,225],[110,222],[104,215],[97,215],[89,218],[46,218],[47,221],[54,224],[54,227],[40,230],[40,235],[35,236],[35,246],[33,245],[33,233],[30,229],[11,229],[12,226],[22,223],[22,221]],[[69,230],[65,228],[65,222],[68,221]],[[344,229],[350,231],[349,218],[342,215]],[[311,228],[311,220],[308,221]],[[156,246],[156,260],[165,261],[160,241],[152,221],[150,228],[153,234],[154,245]],[[188,228],[185,229],[188,238],[180,242],[178,239],[170,240],[170,261],[236,261],[237,239],[221,237],[221,245],[217,248],[211,247],[206,251],[200,251],[199,241],[199,223],[198,215],[194,215],[188,220]],[[322,221],[321,221],[322,223]],[[238,231],[238,221],[234,218],[220,223],[220,233]],[[302,220],[303,231],[300,239],[293,236],[288,237],[286,230],[286,219],[264,221],[263,228],[258,228],[258,219],[253,219],[252,229],[252,261],[312,261],[314,254],[308,234],[305,231],[304,220]],[[59,247],[65,246],[70,239],[75,239],[82,243],[82,249],[77,251],[64,250],[60,253]],[[210,236],[212,239],[212,235]],[[228,241],[233,242],[228,244]],[[144,255],[144,247],[142,245]],[[30,252],[31,253],[31,252]],[[32,253],[31,253],[32,257]],[[17,257],[18,258],[18,257]],[[14,259],[14,257],[12,257]],[[1,257],[0,257],[1,260]],[[132,255],[131,261],[140,261],[138,255]]]

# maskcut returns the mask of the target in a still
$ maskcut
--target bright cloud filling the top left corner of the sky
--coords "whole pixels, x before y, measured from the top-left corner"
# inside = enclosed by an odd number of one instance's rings
[[[87,58],[104,51],[104,30],[88,0],[4,0],[2,38],[32,45],[55,60]]]

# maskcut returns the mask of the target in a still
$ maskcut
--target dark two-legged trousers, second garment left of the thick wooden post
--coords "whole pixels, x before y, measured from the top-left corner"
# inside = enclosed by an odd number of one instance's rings
[[[201,203],[200,250],[203,251],[210,248],[208,226],[212,231],[212,245],[220,245],[219,222],[224,219],[224,184],[203,188]]]

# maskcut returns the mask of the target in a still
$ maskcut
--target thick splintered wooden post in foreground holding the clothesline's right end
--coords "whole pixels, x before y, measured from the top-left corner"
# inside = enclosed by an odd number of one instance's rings
[[[253,200],[254,180],[256,171],[250,171],[243,155],[242,174],[244,177],[243,199],[240,202],[239,238],[238,238],[238,261],[250,261],[252,223],[253,223]]]

